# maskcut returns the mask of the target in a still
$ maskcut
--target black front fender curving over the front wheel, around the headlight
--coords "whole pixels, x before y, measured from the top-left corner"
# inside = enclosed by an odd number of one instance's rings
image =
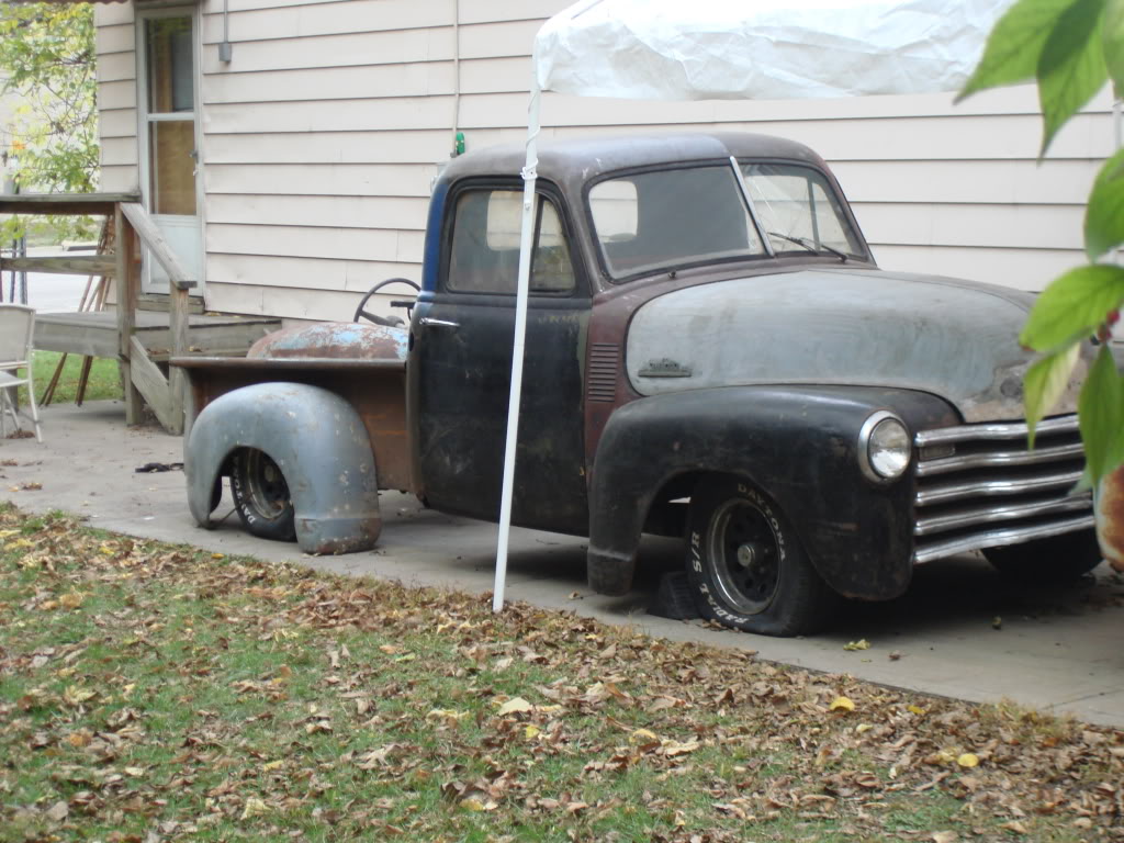
[[[960,420],[934,396],[878,388],[725,387],[625,405],[609,418],[593,462],[590,584],[627,590],[655,495],[679,475],[715,472],[771,497],[840,593],[901,593],[913,570],[913,474],[874,483],[855,453],[863,422],[878,409],[913,430]]]

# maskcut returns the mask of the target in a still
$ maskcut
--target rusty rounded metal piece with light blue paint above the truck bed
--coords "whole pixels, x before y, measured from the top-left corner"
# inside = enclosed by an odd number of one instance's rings
[[[246,356],[293,360],[406,360],[406,328],[357,323],[321,323],[277,330],[259,339]]]

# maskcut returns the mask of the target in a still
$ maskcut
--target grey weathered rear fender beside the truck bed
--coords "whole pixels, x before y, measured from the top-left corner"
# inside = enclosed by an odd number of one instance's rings
[[[374,456],[343,398],[305,383],[255,383],[207,405],[184,448],[188,506],[202,527],[211,526],[215,484],[239,447],[264,451],[281,469],[303,552],[374,546],[382,529]]]

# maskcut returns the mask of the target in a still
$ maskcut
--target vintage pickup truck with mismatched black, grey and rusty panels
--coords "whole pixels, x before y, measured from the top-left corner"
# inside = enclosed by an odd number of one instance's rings
[[[522,164],[496,148],[444,170],[408,326],[178,361],[200,525],[224,475],[250,532],[314,553],[371,547],[379,489],[497,519]],[[700,613],[794,635],[953,554],[1033,578],[1099,562],[1072,384],[1026,447],[1031,296],[879,270],[810,149],[559,143],[535,220],[513,523],[588,536],[595,590],[631,588],[642,533],[683,536]]]

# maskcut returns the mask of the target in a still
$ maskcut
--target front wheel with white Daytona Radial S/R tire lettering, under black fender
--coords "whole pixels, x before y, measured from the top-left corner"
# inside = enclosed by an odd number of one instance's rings
[[[777,505],[735,478],[691,497],[687,577],[704,617],[761,635],[816,632],[839,601]]]

